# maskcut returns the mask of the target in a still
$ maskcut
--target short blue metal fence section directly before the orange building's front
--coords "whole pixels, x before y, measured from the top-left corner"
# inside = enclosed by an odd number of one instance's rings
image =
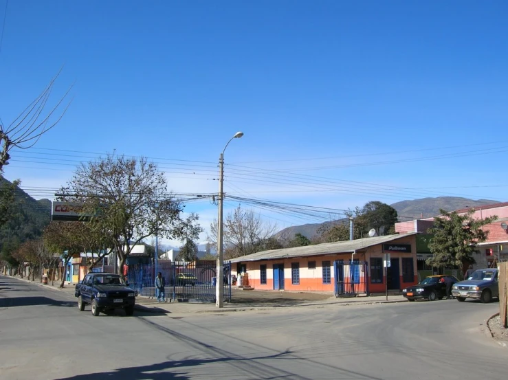
[[[354,297],[357,294],[368,294],[367,262],[359,260],[335,260],[335,297]]]

